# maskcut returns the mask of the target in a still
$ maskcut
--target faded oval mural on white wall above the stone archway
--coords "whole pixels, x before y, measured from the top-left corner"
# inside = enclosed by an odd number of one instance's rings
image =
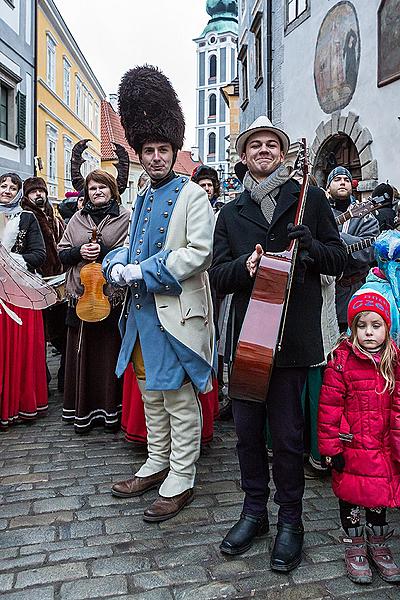
[[[359,64],[357,13],[351,2],[339,2],[326,14],[315,47],[315,90],[324,112],[348,105],[356,89]]]

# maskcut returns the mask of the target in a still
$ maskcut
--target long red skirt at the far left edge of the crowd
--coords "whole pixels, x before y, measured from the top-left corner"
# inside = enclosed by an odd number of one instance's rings
[[[0,424],[34,419],[47,410],[46,346],[42,311],[10,308],[18,325],[0,314]]]

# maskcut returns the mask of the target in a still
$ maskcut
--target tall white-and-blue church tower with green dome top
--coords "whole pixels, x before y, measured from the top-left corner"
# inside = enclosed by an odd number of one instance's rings
[[[229,172],[229,110],[221,87],[236,77],[237,0],[207,0],[208,21],[197,44],[196,141],[204,164]],[[228,138],[228,139],[227,139]],[[223,171],[222,171],[223,169]]]

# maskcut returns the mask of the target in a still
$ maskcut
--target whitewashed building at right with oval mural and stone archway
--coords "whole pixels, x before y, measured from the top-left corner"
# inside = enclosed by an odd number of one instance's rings
[[[255,80],[249,23],[257,11],[265,25],[264,49],[271,36],[270,89],[258,97],[249,93],[244,107],[241,97],[241,125],[269,111],[292,142],[306,137],[320,185],[342,164],[362,194],[378,181],[399,186],[399,0],[241,0],[239,58],[247,43],[249,84]],[[265,54],[263,64],[268,72]],[[243,93],[240,67],[239,76]]]

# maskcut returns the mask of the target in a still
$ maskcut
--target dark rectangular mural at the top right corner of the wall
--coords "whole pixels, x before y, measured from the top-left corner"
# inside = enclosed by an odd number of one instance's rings
[[[378,85],[400,78],[400,0],[382,0],[378,10]]]

